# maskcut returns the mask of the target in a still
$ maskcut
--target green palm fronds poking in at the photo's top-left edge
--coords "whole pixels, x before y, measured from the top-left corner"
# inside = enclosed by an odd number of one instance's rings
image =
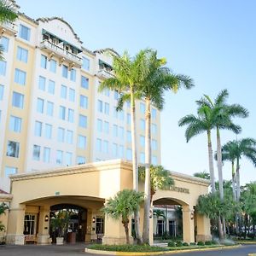
[[[0,0],[0,24],[16,20],[18,15],[15,12],[14,4]],[[3,59],[3,45],[0,44],[0,60]]]

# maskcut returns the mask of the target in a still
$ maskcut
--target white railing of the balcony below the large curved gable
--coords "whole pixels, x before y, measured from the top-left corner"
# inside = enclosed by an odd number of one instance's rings
[[[49,42],[48,40],[44,40],[40,44],[41,49],[48,49],[49,52],[55,53],[55,55],[59,55],[60,57],[64,57],[65,60],[73,62],[79,67],[82,66],[82,58],[80,58],[78,55],[73,54],[72,52],[69,52],[67,49],[63,49],[60,46],[53,44]]]

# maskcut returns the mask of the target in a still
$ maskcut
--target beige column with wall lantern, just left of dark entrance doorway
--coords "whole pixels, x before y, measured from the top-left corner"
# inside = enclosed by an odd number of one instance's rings
[[[49,207],[40,207],[38,218],[38,244],[49,244]]]

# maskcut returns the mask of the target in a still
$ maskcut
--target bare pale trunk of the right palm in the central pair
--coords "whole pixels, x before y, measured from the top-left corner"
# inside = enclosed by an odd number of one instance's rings
[[[143,242],[149,243],[149,211],[150,211],[150,165],[151,165],[151,113],[150,99],[146,99],[146,129],[145,129],[145,188],[144,188],[144,218]]]

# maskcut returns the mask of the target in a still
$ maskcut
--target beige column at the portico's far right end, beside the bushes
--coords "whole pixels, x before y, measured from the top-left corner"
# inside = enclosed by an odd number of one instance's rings
[[[197,226],[197,235],[195,237],[196,241],[212,240],[211,224],[210,224],[209,218],[196,213],[196,226]]]

